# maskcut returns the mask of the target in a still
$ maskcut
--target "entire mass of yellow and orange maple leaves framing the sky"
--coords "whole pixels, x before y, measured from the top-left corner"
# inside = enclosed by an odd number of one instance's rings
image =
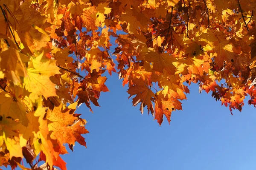
[[[75,111],[99,106],[106,70],[160,125],[182,109],[191,82],[231,114],[245,96],[256,106],[254,8],[256,0],[0,0],[0,166],[24,169],[24,158],[32,169],[65,170],[64,144],[86,146]]]

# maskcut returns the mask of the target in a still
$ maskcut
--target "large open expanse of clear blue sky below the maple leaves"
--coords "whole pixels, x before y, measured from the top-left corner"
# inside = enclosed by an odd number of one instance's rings
[[[63,156],[68,170],[254,170],[256,167],[255,108],[242,113],[198,93],[194,84],[183,111],[172,113],[159,127],[153,117],[132,107],[116,74],[93,112],[82,105],[87,119],[87,149],[76,144]],[[247,100],[246,100],[247,102]]]

